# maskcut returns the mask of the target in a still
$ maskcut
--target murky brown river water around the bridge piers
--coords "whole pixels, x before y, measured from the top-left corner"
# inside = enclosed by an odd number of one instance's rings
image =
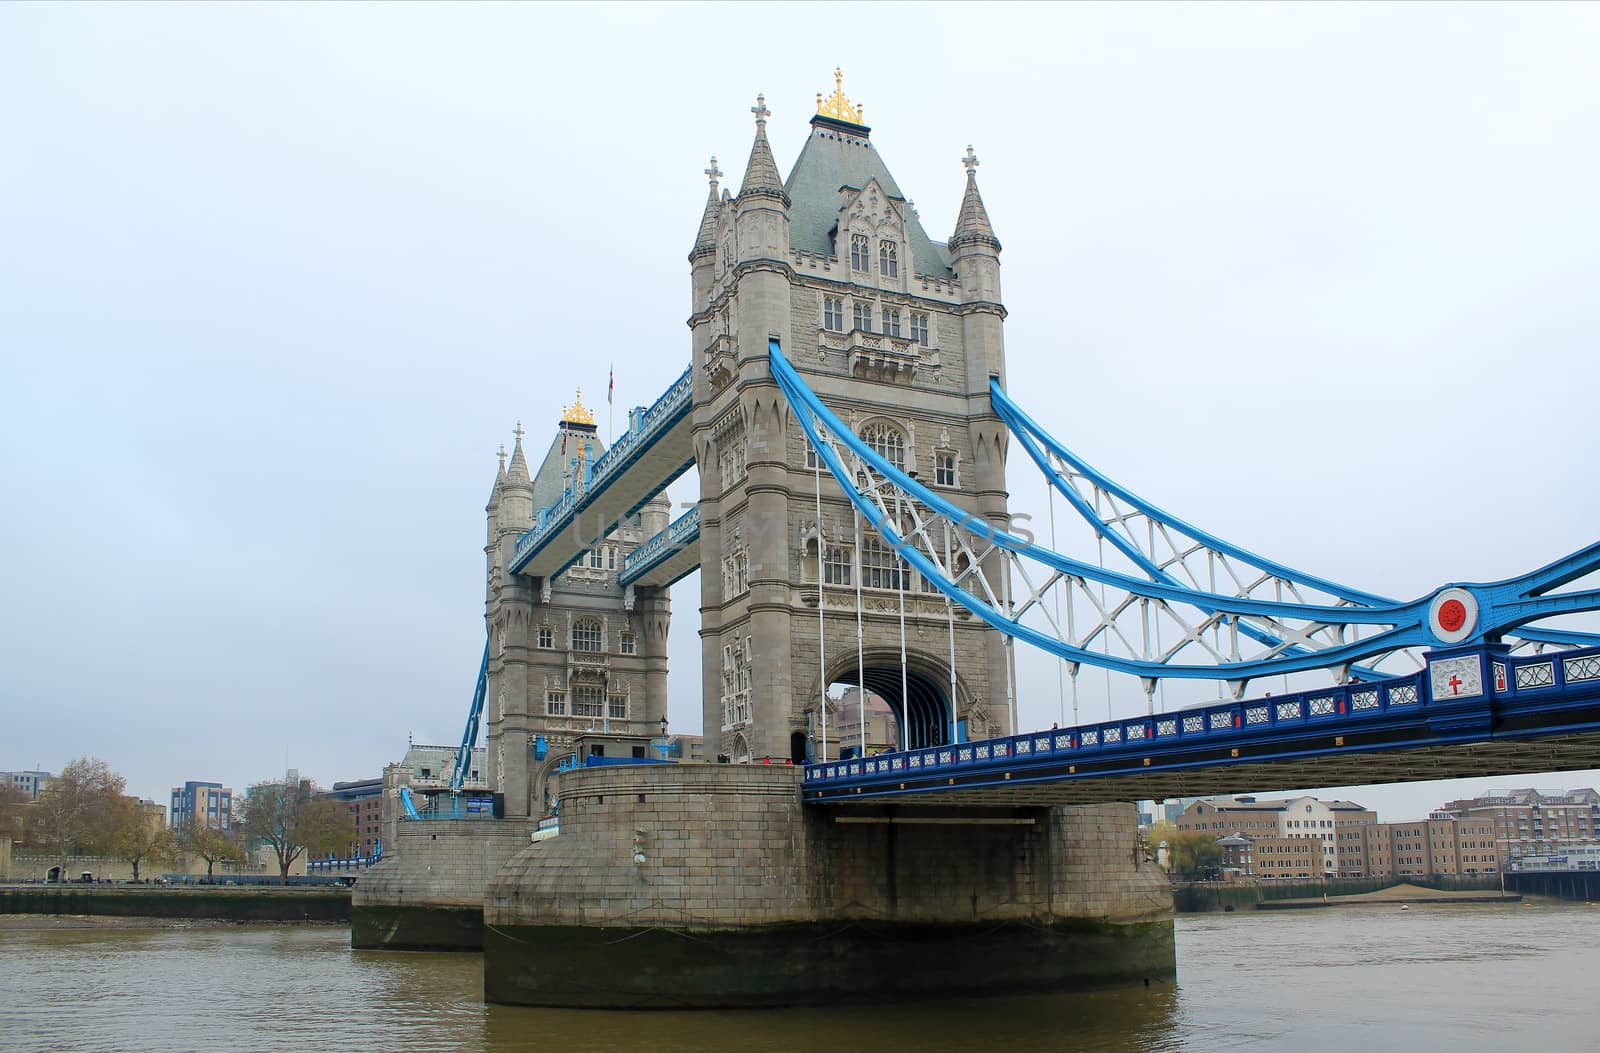
[[[1176,984],[931,1005],[530,1010],[483,1005],[482,963],[336,927],[0,930],[0,1051],[1600,1048],[1584,904],[1179,915]]]

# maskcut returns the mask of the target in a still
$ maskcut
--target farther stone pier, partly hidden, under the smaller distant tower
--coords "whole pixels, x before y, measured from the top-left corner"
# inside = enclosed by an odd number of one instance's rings
[[[483,890],[526,848],[534,819],[397,823],[392,851],[355,882],[350,946],[382,951],[478,951]]]

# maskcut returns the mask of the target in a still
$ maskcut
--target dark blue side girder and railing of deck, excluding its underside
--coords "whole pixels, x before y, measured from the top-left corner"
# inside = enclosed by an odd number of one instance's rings
[[[952,787],[1150,775],[1352,749],[1600,735],[1600,648],[1512,656],[1502,647],[1485,647],[1430,658],[1475,659],[1482,691],[1467,699],[1435,698],[1429,674],[1416,674],[811,763],[805,799],[938,795]]]

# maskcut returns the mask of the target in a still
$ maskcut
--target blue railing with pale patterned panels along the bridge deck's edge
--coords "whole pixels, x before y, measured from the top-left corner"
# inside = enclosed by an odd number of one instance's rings
[[[1568,691],[1581,690],[1584,698],[1600,696],[1600,648],[1520,658],[1486,653],[1485,666],[1488,683],[1483,693],[1472,699],[1480,706],[1493,699],[1501,711],[1526,712],[1560,704],[1565,701],[1563,693]],[[1216,703],[1168,714],[810,763],[805,768],[805,784],[808,787],[854,781],[869,784],[952,770],[1011,768],[1029,760],[1062,757],[1147,755],[1152,749],[1165,752],[1170,746],[1200,741],[1248,741],[1306,727],[1354,730],[1381,717],[1421,717],[1430,709],[1459,709],[1459,706],[1461,703],[1450,698],[1430,698],[1427,675],[1418,672],[1410,677]]]

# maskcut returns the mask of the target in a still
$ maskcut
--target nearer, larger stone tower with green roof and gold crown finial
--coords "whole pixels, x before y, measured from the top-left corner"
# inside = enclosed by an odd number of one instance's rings
[[[957,722],[971,738],[1008,730],[1000,634],[949,611],[869,528],[858,546],[853,510],[826,474],[818,522],[814,461],[768,368],[778,336],[869,445],[1005,520],[1006,432],[987,395],[989,378],[1005,378],[1000,242],[978,158],[968,147],[955,232],[938,245],[837,75],[787,179],[757,99],[739,192],[718,189],[712,158],[690,253],[704,730],[707,754],[734,762],[816,757],[824,688],[842,682],[882,695],[910,746],[949,741]]]

